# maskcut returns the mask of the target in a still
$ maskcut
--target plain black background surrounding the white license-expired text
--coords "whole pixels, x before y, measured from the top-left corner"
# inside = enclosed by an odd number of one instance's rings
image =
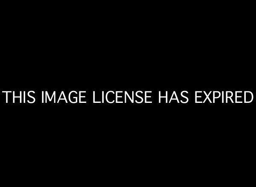
[[[5,176],[131,184],[250,178],[255,101],[196,105],[193,96],[255,94],[247,7],[42,7],[3,13],[1,91],[152,90],[154,104],[2,102]],[[157,104],[157,91],[183,90],[187,105]]]

